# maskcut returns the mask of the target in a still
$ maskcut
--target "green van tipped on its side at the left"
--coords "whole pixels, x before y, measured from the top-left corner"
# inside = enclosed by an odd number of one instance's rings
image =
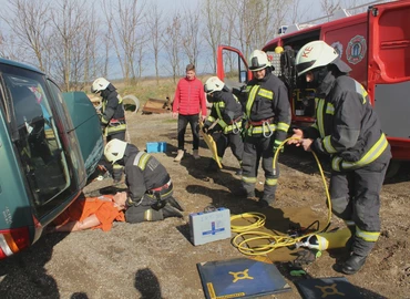
[[[81,193],[103,154],[83,92],[0,59],[0,259],[31,246]]]

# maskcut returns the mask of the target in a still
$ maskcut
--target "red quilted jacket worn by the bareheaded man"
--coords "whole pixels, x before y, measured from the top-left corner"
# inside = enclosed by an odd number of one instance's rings
[[[178,81],[172,111],[182,115],[198,114],[201,111],[202,115],[206,115],[204,85],[199,79],[187,80],[183,78]]]

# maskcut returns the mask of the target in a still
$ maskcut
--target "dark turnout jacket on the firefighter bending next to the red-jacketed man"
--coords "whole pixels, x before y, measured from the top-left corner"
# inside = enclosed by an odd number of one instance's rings
[[[223,131],[224,134],[228,134],[239,130],[244,112],[238,99],[225,90],[215,92],[213,99],[214,102],[205,126],[211,126],[216,120],[219,120],[214,131]]]

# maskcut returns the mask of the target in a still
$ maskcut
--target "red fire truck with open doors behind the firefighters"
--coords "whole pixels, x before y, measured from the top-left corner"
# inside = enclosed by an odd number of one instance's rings
[[[293,126],[307,126],[315,121],[315,90],[297,78],[295,58],[306,43],[324,40],[332,45],[350,68],[350,75],[368,91],[391,145],[389,176],[399,169],[400,161],[410,161],[410,1],[394,1],[368,7],[367,12],[349,16],[334,13],[320,24],[294,24],[280,28],[262,49],[271,59],[275,74],[289,90]],[[284,51],[276,53],[280,47]],[[219,45],[217,75],[227,85],[238,86],[252,79],[242,52]],[[227,60],[235,61],[234,66]],[[237,63],[236,63],[237,61]]]

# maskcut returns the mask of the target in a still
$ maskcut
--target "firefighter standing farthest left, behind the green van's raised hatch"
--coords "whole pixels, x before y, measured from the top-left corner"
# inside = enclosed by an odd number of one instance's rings
[[[105,142],[111,140],[125,141],[125,113],[121,95],[116,89],[104,78],[95,79],[91,86],[92,93],[99,93],[102,97],[101,109],[101,128],[105,137]],[[114,183],[121,182],[123,169],[120,165],[102,164],[110,171],[114,178]]]

